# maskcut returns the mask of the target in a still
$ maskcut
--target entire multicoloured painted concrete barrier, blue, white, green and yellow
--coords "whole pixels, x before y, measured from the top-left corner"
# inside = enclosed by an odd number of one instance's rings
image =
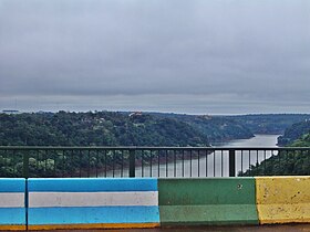
[[[0,179],[0,230],[310,223],[309,190],[310,177]]]

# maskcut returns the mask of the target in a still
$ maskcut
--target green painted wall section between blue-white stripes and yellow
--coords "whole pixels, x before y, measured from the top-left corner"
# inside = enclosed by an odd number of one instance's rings
[[[254,178],[158,179],[162,225],[258,224]]]

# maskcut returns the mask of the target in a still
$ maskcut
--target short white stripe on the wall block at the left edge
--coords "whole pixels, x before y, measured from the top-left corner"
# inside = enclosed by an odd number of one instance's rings
[[[24,208],[24,193],[0,192],[0,208]]]

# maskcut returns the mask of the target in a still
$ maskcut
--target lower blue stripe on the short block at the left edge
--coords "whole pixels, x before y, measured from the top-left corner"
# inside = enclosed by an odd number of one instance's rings
[[[25,224],[25,209],[0,208],[0,224]]]

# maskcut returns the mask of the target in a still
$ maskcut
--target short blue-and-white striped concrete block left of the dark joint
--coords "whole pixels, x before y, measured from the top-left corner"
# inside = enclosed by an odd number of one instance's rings
[[[25,230],[25,180],[0,178],[0,230]]]

